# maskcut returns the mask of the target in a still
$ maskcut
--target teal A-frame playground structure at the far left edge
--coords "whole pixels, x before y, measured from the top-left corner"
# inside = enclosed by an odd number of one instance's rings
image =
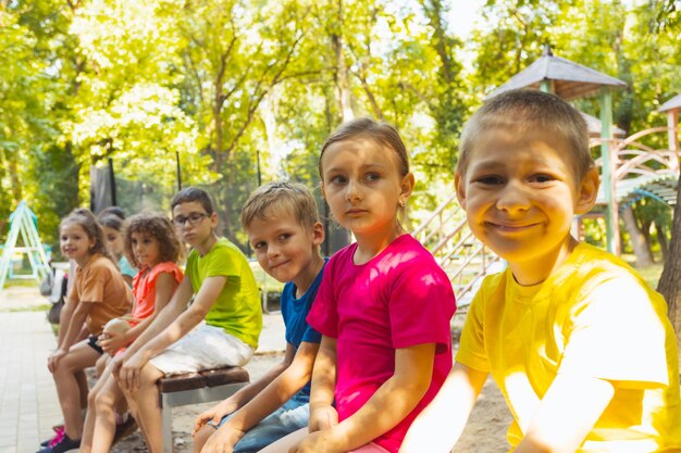
[[[42,280],[51,270],[48,253],[38,235],[38,217],[30,211],[25,201],[18,203],[10,215],[10,232],[0,257],[0,290],[4,288],[7,279],[32,278]],[[18,239],[24,246],[18,246]],[[13,259],[15,255],[25,255],[30,265],[30,274],[15,275]]]

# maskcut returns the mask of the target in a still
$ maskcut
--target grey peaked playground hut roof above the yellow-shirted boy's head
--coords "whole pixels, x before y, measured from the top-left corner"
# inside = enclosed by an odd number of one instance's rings
[[[540,89],[542,83],[546,80],[553,85],[552,91],[565,100],[598,95],[602,86],[627,87],[627,84],[618,78],[555,56],[546,46],[538,60],[494,90],[487,99],[512,89]]]

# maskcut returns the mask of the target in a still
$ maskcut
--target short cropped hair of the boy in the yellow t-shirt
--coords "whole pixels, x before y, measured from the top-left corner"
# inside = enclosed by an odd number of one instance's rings
[[[478,137],[499,126],[517,127],[518,134],[538,126],[560,135],[569,143],[574,175],[579,181],[594,166],[589,150],[589,129],[582,115],[555,95],[519,89],[492,98],[466,123],[461,133],[457,173],[466,173]]]

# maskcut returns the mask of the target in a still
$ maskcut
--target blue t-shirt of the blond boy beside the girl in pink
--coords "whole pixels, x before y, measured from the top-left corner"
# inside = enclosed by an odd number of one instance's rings
[[[324,261],[324,266],[326,262]],[[320,343],[322,341],[322,335],[314,330],[307,322],[308,313],[317,297],[317,290],[322,281],[322,275],[324,274],[324,267],[317,274],[312,285],[301,298],[296,299],[294,297],[296,292],[296,286],[293,281],[287,282],[282,291],[282,316],[284,317],[284,325],[286,326],[286,342],[293,345],[296,351],[300,347],[300,343],[307,341],[309,343]],[[298,400],[310,399],[310,382],[306,383],[298,393],[294,397]]]

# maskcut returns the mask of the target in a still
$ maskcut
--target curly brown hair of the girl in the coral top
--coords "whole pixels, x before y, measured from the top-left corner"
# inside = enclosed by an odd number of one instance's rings
[[[182,243],[172,222],[161,213],[140,213],[127,221],[125,228],[124,249],[127,261],[139,268],[140,264],[133,252],[133,232],[149,235],[159,242],[159,263],[170,261],[176,263],[183,252]]]

